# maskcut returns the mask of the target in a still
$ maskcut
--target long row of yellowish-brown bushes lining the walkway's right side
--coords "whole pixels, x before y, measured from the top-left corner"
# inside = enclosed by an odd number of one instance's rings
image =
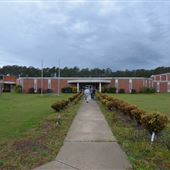
[[[124,115],[129,116],[131,120],[135,119],[138,125],[143,126],[150,133],[159,133],[168,123],[168,118],[164,113],[145,112],[136,105],[131,105],[123,100],[107,96],[106,94],[97,93],[96,96],[109,110],[116,109],[121,111]]]

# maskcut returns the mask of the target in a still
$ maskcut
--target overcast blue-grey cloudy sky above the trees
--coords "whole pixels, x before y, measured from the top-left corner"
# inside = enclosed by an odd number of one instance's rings
[[[170,66],[170,0],[0,0],[0,66]]]

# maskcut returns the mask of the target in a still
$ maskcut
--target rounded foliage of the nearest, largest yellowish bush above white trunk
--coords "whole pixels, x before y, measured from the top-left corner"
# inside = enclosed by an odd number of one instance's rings
[[[149,112],[142,115],[141,122],[150,133],[155,132],[157,134],[166,127],[168,118],[161,112]]]

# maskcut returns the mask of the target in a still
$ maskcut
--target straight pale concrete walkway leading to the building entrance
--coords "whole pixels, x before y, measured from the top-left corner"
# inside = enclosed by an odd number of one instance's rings
[[[35,170],[125,170],[130,167],[95,101],[83,102],[56,159]]]

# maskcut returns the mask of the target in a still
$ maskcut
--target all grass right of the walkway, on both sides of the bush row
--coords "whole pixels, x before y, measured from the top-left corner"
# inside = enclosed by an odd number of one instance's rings
[[[161,111],[170,116],[169,94],[115,94],[131,104],[136,104],[146,111]],[[150,135],[142,127],[130,121],[118,111],[108,111],[100,105],[113,134],[128,155],[134,170],[169,170],[170,169],[170,123],[158,136],[154,144]],[[169,146],[169,147],[168,147]]]

